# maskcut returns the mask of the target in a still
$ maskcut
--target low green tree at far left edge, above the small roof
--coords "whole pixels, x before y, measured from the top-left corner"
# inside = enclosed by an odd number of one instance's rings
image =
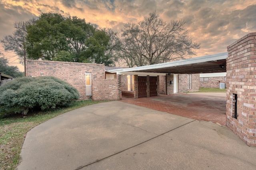
[[[0,72],[12,76],[13,78],[24,76],[17,66],[9,66],[8,59],[0,57]]]

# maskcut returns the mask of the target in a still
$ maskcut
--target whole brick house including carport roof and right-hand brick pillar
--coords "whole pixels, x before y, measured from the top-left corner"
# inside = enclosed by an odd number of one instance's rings
[[[56,76],[78,89],[80,99],[119,100],[194,91],[200,73],[226,72],[226,125],[256,147],[256,32],[228,46],[228,53],[171,63],[108,70],[103,64],[26,61],[27,76]]]

